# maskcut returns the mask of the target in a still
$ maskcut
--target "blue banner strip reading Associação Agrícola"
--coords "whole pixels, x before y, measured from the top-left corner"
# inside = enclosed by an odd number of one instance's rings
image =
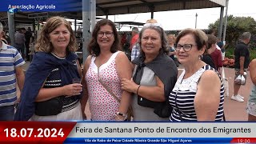
[[[0,11],[82,11],[82,0],[1,0]]]

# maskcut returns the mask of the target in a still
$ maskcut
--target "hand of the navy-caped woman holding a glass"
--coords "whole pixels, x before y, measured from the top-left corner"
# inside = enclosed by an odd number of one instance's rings
[[[63,86],[63,95],[68,97],[79,95],[82,92],[82,85],[80,83],[74,83],[70,85]]]

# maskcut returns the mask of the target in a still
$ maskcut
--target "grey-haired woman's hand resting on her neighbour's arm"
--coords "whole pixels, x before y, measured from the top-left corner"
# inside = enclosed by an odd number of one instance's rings
[[[128,80],[126,78],[122,78],[121,89],[136,94],[138,85],[132,79]]]

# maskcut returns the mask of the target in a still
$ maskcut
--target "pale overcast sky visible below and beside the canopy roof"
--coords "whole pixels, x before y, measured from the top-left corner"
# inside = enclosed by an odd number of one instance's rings
[[[229,0],[228,14],[250,16],[256,19],[255,4],[255,0]],[[220,17],[220,10],[221,8],[210,8],[155,12],[154,19],[162,24],[164,30],[182,30],[188,27],[194,28],[195,14],[198,14],[197,28],[207,29],[210,23],[215,22]],[[147,19],[150,19],[150,13],[115,15],[109,16],[109,19],[114,22],[146,22]],[[121,30],[130,30],[130,27],[122,27]]]

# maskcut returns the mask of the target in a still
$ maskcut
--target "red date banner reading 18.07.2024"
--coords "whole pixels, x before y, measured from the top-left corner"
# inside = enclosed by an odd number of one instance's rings
[[[76,122],[1,122],[0,143],[63,143]]]

